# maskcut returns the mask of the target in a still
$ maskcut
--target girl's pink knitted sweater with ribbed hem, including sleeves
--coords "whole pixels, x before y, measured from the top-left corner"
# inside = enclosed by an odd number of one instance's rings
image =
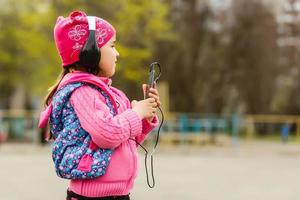
[[[116,103],[118,114],[113,117],[105,98],[89,86],[82,86],[73,92],[70,102],[82,128],[91,135],[95,144],[101,148],[113,148],[114,152],[103,176],[90,180],[71,180],[69,189],[88,197],[127,195],[138,171],[137,145],[130,138],[142,143],[147,134],[158,125],[157,117],[151,122],[140,119],[131,109],[126,95],[112,87],[108,78],[76,71],[67,74],[60,87],[76,81],[96,82],[101,85]]]

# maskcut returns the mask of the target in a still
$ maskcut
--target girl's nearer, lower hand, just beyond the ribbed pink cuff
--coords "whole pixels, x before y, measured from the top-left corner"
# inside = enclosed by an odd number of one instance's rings
[[[148,98],[142,101],[133,100],[131,107],[141,119],[150,119],[156,114],[157,103],[154,98]]]

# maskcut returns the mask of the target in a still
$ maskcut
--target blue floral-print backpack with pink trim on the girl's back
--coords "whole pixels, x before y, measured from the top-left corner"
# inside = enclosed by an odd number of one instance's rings
[[[89,133],[81,127],[69,101],[71,94],[83,85],[97,89],[105,97],[110,112],[116,115],[109,96],[94,85],[70,83],[56,92],[50,116],[50,131],[55,138],[52,159],[57,175],[66,179],[91,179],[103,175],[113,152],[94,144]]]

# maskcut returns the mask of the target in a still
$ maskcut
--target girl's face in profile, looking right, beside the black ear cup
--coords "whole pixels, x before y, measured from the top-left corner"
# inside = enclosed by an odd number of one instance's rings
[[[100,48],[99,76],[110,78],[115,74],[116,62],[119,57],[119,52],[115,48],[115,42],[116,34]]]

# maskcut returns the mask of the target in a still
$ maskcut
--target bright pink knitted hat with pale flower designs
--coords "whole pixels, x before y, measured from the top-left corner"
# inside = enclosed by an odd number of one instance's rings
[[[98,47],[105,45],[116,33],[114,27],[104,19],[96,17],[96,40]],[[74,11],[69,17],[58,17],[54,27],[56,48],[67,66],[79,61],[79,53],[89,36],[87,15],[82,11]]]

